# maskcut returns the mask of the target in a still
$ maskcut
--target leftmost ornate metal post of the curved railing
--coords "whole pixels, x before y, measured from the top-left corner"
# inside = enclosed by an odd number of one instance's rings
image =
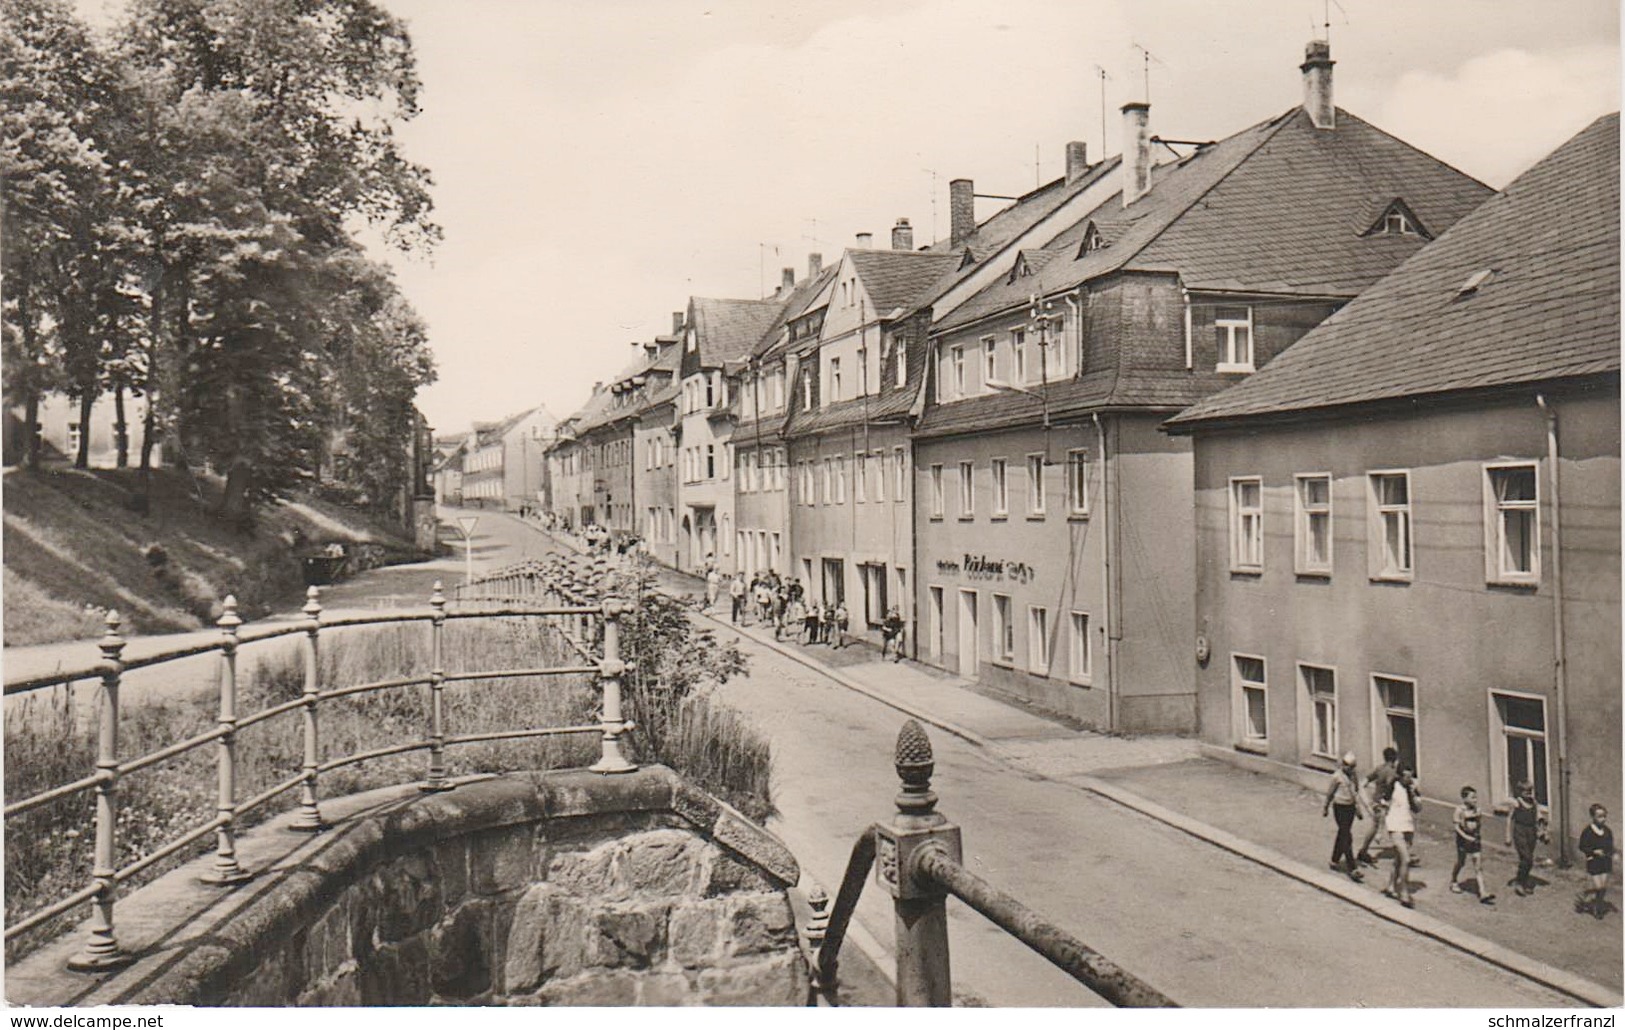
[[[119,892],[117,827],[119,827],[119,677],[124,674],[124,637],[119,635],[119,612],[107,612],[107,632],[96,643],[102,653],[102,686],[98,699],[96,728],[96,856],[91,876],[96,897],[91,900],[89,936],[70,970],[96,972],[128,963],[112,928],[112,907]]]

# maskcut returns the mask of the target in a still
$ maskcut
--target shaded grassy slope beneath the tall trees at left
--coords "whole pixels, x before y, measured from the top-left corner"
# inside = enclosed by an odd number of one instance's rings
[[[198,629],[237,596],[245,619],[297,606],[297,552],[330,541],[366,544],[374,560],[418,557],[405,538],[317,500],[265,505],[252,530],[211,515],[219,484],[154,470],[140,510],[130,470],[5,476],[5,643],[83,640],[107,609],[125,634]]]

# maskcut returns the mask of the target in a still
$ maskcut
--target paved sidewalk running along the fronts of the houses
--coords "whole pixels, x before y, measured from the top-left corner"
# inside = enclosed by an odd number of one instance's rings
[[[1537,866],[1536,894],[1518,897],[1505,885],[1516,859],[1498,840],[1488,840],[1485,884],[1497,902],[1480,905],[1471,887],[1461,895],[1448,890],[1456,858],[1448,829],[1440,835],[1424,827],[1417,840],[1424,864],[1410,872],[1417,908],[1406,910],[1380,894],[1391,869],[1386,858],[1378,869],[1365,869],[1363,884],[1328,869],[1336,827],[1331,819],[1320,817],[1321,798],[1315,791],[1201,757],[1194,741],[1071,729],[1040,712],[985,697],[970,682],[938,669],[912,661],[882,663],[871,647],[834,650],[798,645],[793,638],[774,642],[772,627],[734,627],[726,611],[712,611],[707,617],[853,690],[986,747],[1017,768],[1105,796],[1352,907],[1592,1004],[1622,1004],[1625,934],[1620,911],[1614,902],[1602,921],[1575,913],[1583,871]],[[1357,845],[1367,825],[1355,824]]]

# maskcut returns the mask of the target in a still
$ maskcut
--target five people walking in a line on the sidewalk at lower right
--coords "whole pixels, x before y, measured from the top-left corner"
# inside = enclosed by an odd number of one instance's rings
[[[1388,885],[1383,887],[1386,897],[1396,898],[1406,908],[1415,908],[1410,894],[1410,869],[1420,866],[1415,851],[1415,817],[1422,811],[1422,799],[1417,793],[1415,770],[1399,762],[1394,747],[1383,749],[1383,764],[1367,773],[1362,781],[1357,775],[1355,755],[1342,755],[1342,762],[1331,773],[1326,785],[1326,798],[1321,803],[1321,817],[1328,814],[1337,820],[1337,835],[1331,848],[1332,872],[1346,872],[1349,879],[1360,882],[1365,874],[1360,866],[1376,866],[1372,856],[1372,845],[1383,833],[1394,851],[1393,871]],[[1372,827],[1360,845],[1354,850],[1354,822],[1372,817]],[[1580,833],[1580,851],[1586,856],[1588,889],[1575,900],[1575,911],[1589,913],[1596,918],[1607,915],[1607,890],[1614,874],[1614,830],[1607,825],[1607,809],[1592,804],[1591,822]],[[1461,804],[1451,816],[1456,838],[1456,864],[1450,871],[1450,892],[1466,894],[1461,872],[1467,869],[1476,885],[1479,903],[1493,905],[1492,894],[1484,882],[1484,812],[1479,809],[1479,791],[1474,786],[1461,788]],[[1536,881],[1531,876],[1536,861],[1536,846],[1549,843],[1547,819],[1536,801],[1534,785],[1523,781],[1516,786],[1516,799],[1506,819],[1506,845],[1518,853],[1518,872],[1506,881],[1519,897],[1534,894]]]

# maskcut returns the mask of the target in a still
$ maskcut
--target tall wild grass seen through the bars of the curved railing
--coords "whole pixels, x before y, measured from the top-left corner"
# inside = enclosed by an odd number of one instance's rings
[[[260,647],[280,647],[265,643]],[[327,687],[422,676],[429,668],[426,624],[333,630],[322,637],[320,676]],[[578,658],[538,622],[450,622],[445,629],[445,668],[502,669],[538,664],[575,664]],[[244,663],[247,664],[247,663]],[[639,677],[632,677],[634,681]],[[239,716],[291,700],[304,687],[299,645],[265,660],[239,689]],[[663,762],[705,790],[725,798],[754,819],[770,812],[767,798],[769,749],[731,710],[710,703],[702,690],[681,702],[648,686],[629,682],[629,703],[650,725],[629,741],[640,762]],[[648,694],[660,694],[655,700]],[[445,687],[445,723],[450,734],[515,729],[526,726],[575,726],[596,721],[598,690],[590,676],[540,681],[468,681]],[[169,700],[130,705],[120,718],[120,757],[130,759],[211,729],[213,700]],[[405,687],[335,699],[320,710],[323,760],[426,739],[429,689]],[[447,749],[452,775],[515,768],[566,768],[590,765],[598,757],[598,736],[492,741]],[[39,695],[5,720],[5,796],[23,799],[68,783],[93,770],[93,726],[75,725],[63,692]],[[245,728],[237,738],[237,798],[245,799],[299,770],[304,757],[302,720],[289,712]],[[216,747],[198,747],[125,777],[119,785],[119,858],[122,868],[180,837],[214,816]],[[392,783],[419,780],[427,752],[375,759],[322,777],[322,794],[338,796]],[[297,804],[297,788],[245,817],[262,822]],[[6,923],[37,911],[89,882],[94,846],[94,794],[47,804],[6,822],[5,908]],[[213,838],[158,863],[122,890],[130,890],[172,869],[180,861],[213,848]],[[24,934],[6,947],[15,960],[83,918],[83,908]]]

